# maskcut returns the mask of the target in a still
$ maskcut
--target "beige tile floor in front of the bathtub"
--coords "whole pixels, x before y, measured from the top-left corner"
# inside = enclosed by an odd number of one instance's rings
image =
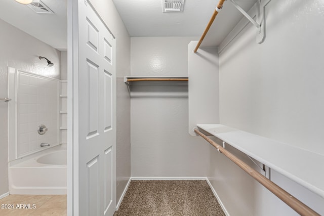
[[[63,216],[66,215],[66,195],[9,195],[0,199],[0,216],[5,215]]]

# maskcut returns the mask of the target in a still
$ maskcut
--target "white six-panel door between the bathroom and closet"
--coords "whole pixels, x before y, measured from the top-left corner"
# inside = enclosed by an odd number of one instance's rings
[[[74,214],[109,216],[116,206],[115,39],[91,4],[84,1],[78,1],[76,35],[78,147],[73,154],[78,159],[73,172],[78,180],[74,181],[73,196],[78,207]]]

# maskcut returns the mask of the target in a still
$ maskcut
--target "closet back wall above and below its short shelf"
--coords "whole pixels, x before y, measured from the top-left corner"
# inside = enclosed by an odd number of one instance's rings
[[[133,76],[187,76],[196,37],[132,37]],[[187,85],[131,89],[132,177],[206,177],[207,145],[188,134]]]

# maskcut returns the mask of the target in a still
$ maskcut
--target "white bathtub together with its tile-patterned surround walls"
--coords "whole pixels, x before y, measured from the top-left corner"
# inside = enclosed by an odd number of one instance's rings
[[[66,144],[60,145],[66,143],[60,142],[60,124],[66,124],[66,118],[60,118],[64,105],[59,100],[60,80],[10,67],[8,74],[9,192],[66,194]],[[48,128],[44,135],[37,132],[41,124]]]

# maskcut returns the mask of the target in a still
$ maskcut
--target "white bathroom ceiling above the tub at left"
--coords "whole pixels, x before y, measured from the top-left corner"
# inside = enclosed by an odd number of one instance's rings
[[[58,49],[67,49],[67,0],[42,0],[54,14],[37,14],[14,0],[2,1],[0,19]]]

